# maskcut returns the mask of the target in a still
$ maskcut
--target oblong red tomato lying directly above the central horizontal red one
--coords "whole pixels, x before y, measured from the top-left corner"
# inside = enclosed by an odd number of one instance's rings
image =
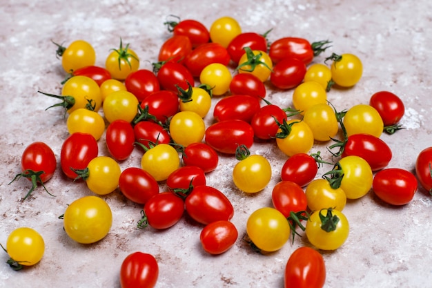
[[[261,105],[257,97],[249,95],[229,95],[220,99],[213,110],[216,121],[239,119],[250,123]]]

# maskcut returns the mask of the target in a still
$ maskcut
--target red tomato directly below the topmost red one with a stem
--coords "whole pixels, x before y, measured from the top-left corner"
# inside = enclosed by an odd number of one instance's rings
[[[173,35],[168,38],[159,49],[157,61],[173,61],[181,63],[192,51],[192,43],[189,37],[184,35]]]

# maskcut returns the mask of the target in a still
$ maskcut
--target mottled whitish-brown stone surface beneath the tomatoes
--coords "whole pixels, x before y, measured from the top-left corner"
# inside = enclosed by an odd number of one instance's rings
[[[57,197],[39,187],[30,199],[21,201],[30,182],[8,183],[20,171],[24,148],[35,141],[46,142],[59,161],[61,144],[68,136],[61,109],[45,111],[53,99],[37,93],[59,93],[65,77],[51,40],[67,45],[85,39],[95,47],[96,64],[104,66],[108,51],[117,47],[121,37],[141,57],[141,68],[151,68],[159,47],[170,36],[164,26],[168,15],[197,19],[208,28],[219,17],[235,17],[244,32],[273,28],[270,41],[286,36],[331,39],[333,46],[314,62],[324,61],[331,52],[351,52],[362,59],[364,74],[353,88],[331,90],[328,99],[342,110],[367,104],[379,90],[399,95],[406,106],[402,119],[406,128],[382,139],[393,150],[389,167],[414,171],[418,153],[432,146],[431,10],[429,0],[1,1],[0,242],[6,244],[8,234],[17,227],[32,227],[43,236],[46,253],[35,267],[16,272],[4,263],[8,256],[1,252],[0,287],[119,287],[122,260],[128,253],[143,251],[159,262],[159,288],[280,288],[288,257],[297,247],[309,245],[306,237],[297,238],[275,253],[260,255],[242,240],[248,215],[271,206],[271,189],[286,160],[274,143],[255,143],[251,148],[252,153],[266,155],[273,169],[271,183],[260,193],[246,195],[234,188],[233,157],[221,156],[217,170],[207,175],[208,184],[233,202],[233,223],[239,230],[235,246],[220,256],[202,250],[202,226],[188,218],[166,231],[136,229],[141,207],[126,201],[119,191],[104,197],[113,212],[108,236],[95,244],[77,244],[63,231],[58,216],[67,204],[92,192],[83,182],[68,180],[59,166],[46,183]],[[291,93],[275,92],[268,86],[267,99],[291,106]],[[211,113],[205,120],[212,122]],[[329,157],[325,144],[315,144],[313,151]],[[104,137],[99,140],[99,154],[108,155]],[[121,162],[122,169],[139,166],[140,157],[135,151]],[[324,172],[320,169],[317,177]],[[336,251],[322,251],[325,287],[430,287],[431,209],[431,196],[421,188],[404,207],[383,204],[373,192],[348,201],[344,209],[351,223],[348,240]]]

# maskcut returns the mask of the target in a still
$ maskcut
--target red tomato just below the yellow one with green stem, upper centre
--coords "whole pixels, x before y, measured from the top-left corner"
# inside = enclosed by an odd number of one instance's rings
[[[266,86],[251,73],[238,73],[230,81],[230,93],[232,95],[251,95],[261,100],[266,97]]]

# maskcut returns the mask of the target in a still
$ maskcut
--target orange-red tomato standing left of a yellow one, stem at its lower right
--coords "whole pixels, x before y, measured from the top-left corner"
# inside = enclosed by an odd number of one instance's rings
[[[299,184],[291,181],[280,181],[273,186],[271,193],[273,207],[288,218],[291,212],[306,211],[308,203],[306,195]]]

